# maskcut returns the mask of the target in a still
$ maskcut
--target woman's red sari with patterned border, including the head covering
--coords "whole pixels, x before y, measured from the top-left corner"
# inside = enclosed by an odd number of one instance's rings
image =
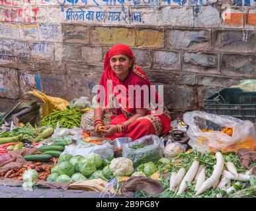
[[[148,77],[145,73],[137,67],[134,62],[132,63],[132,68],[130,69],[128,76],[122,82],[117,78],[114,71],[110,67],[110,58],[117,54],[124,54],[128,55],[132,61],[134,61],[134,55],[132,50],[127,45],[114,45],[105,56],[105,63],[104,63],[104,73],[101,76],[100,85],[104,86],[105,88],[105,105],[104,108],[106,111],[112,111],[112,116],[110,117],[110,125],[115,124],[122,124],[127,121],[130,117],[136,114],[136,107],[135,102],[141,102],[141,108],[144,108],[144,98],[143,92],[141,96],[137,96],[136,93],[132,93],[134,96],[134,107],[128,107],[128,99],[129,99],[129,92],[128,86],[129,85],[139,85],[139,86],[150,86],[151,82],[149,82]],[[112,80],[113,88],[112,88],[112,98],[114,96],[118,96],[118,93],[114,93],[114,86],[116,85],[123,85],[125,87],[124,93],[126,93],[126,106],[121,106],[120,108],[114,108],[108,105],[107,98],[109,98],[109,94],[107,93],[107,80]],[[155,92],[155,91],[154,91]],[[152,93],[151,93],[152,94]],[[161,100],[157,95],[157,92],[153,93],[155,95],[156,103],[160,103]],[[97,100],[99,102],[99,96],[97,96]],[[120,104],[120,99],[118,101]],[[146,116],[140,117],[136,119],[133,123],[128,125],[127,130],[124,133],[114,133],[110,136],[106,136],[107,138],[114,139],[118,137],[130,137],[132,140],[136,140],[141,138],[142,136],[146,135],[163,135],[169,132],[171,124],[171,117],[169,116],[169,112],[167,109],[164,109],[164,112],[161,115],[153,115],[151,114],[151,110],[147,110]]]

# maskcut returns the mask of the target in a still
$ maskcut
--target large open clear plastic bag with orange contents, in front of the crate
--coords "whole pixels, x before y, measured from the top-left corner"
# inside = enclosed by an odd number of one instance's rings
[[[214,115],[204,111],[187,112],[184,114],[183,120],[189,125],[187,131],[187,135],[191,138],[189,145],[192,148],[197,148],[200,152],[216,152],[216,150],[237,152],[239,148],[254,150],[256,147],[255,129],[251,121],[242,121],[235,117]],[[201,131],[209,126],[214,127],[214,131]],[[232,127],[232,136],[222,133],[220,129],[223,127]]]

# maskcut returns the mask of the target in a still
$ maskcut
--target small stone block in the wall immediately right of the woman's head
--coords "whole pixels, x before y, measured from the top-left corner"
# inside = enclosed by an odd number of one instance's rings
[[[145,49],[132,49],[136,63],[142,69],[151,67],[152,59],[148,50]]]

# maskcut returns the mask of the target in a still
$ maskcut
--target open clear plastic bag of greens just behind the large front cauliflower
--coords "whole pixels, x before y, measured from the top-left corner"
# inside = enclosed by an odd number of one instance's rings
[[[143,148],[134,149],[138,144],[145,146]],[[148,135],[134,140],[134,142],[123,144],[122,156],[132,160],[134,167],[138,167],[140,164],[145,164],[150,161],[157,162],[157,160],[163,158],[161,140],[158,136]]]

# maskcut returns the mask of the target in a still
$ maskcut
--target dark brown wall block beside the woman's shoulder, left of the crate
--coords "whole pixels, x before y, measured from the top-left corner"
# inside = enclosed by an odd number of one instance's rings
[[[164,85],[163,100],[168,109],[175,111],[188,111],[198,109],[197,90],[187,85]]]

